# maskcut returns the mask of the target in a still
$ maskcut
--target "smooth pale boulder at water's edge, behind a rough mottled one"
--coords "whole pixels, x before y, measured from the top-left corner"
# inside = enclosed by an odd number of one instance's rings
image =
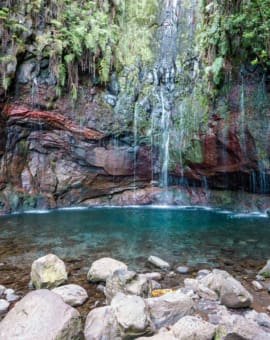
[[[104,257],[92,263],[87,274],[87,280],[91,282],[105,282],[110,275],[119,269],[127,270],[127,265],[112,258]]]

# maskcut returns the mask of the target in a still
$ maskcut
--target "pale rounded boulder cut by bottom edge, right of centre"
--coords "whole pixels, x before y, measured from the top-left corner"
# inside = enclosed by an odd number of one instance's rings
[[[197,316],[187,315],[174,324],[171,331],[179,340],[212,340],[216,327]]]

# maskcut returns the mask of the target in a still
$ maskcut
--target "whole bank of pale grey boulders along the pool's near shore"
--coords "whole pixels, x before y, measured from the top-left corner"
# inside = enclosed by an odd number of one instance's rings
[[[228,272],[200,270],[182,286],[164,289],[164,277],[175,272],[156,256],[148,261],[158,271],[136,273],[111,258],[93,262],[85,280],[96,284],[106,303],[93,306],[83,322],[75,307],[89,299],[86,290],[68,284],[57,256],[37,259],[32,291],[22,299],[0,286],[0,313],[6,313],[0,339],[270,339],[270,306],[265,313],[256,311],[253,296]],[[188,268],[175,271],[187,274]],[[252,282],[254,289],[269,292],[269,278],[270,260]]]

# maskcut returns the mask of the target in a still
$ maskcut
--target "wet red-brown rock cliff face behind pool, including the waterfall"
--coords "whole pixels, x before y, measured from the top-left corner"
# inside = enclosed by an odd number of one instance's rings
[[[106,86],[82,71],[76,101],[57,97],[50,60],[36,58],[31,41],[17,56],[1,101],[2,211],[207,204],[208,189],[269,195],[269,75],[233,69],[209,108],[194,45],[196,1],[160,4],[153,63],[124,67]],[[175,185],[188,200],[168,198]]]

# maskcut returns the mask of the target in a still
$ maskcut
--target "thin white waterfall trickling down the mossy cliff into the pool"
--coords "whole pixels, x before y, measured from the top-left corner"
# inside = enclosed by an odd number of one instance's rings
[[[167,192],[170,172],[176,164],[183,181],[182,152],[188,148],[187,140],[197,128],[194,126],[200,113],[192,107],[197,72],[192,48],[195,0],[160,2],[152,47],[154,59],[152,65],[138,72],[141,78],[133,110],[133,178],[136,188],[137,149],[146,141],[151,145],[151,181]]]

